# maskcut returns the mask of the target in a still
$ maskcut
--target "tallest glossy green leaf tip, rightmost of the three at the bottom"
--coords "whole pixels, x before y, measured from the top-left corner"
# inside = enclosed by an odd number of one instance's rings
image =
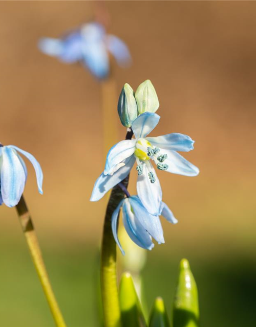
[[[173,308],[174,327],[199,327],[198,292],[195,278],[186,259],[180,262],[180,273]]]

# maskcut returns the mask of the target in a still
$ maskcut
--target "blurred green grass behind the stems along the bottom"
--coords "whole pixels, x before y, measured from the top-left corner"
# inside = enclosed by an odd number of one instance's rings
[[[97,327],[97,247],[73,243],[60,248],[44,241],[42,248],[68,326]],[[54,327],[25,241],[2,239],[0,254],[0,326]],[[149,307],[161,295],[170,313],[180,259],[179,253],[167,254],[163,247],[149,253],[143,270]],[[202,260],[191,250],[187,259],[198,284],[202,326],[255,326],[253,257],[205,256]]]

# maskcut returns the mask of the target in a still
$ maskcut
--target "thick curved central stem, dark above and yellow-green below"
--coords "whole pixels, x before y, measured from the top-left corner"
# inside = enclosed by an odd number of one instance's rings
[[[131,139],[133,132],[127,131],[125,139]],[[127,189],[129,175],[122,180]],[[116,242],[111,228],[111,218],[119,202],[123,199],[124,192],[116,185],[110,195],[106,207],[105,221],[101,248],[101,292],[104,314],[104,327],[120,327],[120,307],[117,289],[117,267],[116,267]]]

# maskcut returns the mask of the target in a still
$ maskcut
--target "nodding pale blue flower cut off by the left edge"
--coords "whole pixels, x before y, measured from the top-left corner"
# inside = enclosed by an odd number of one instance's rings
[[[0,146],[0,205],[5,203],[9,207],[18,204],[22,196],[27,179],[27,168],[22,157],[25,155],[34,166],[38,191],[42,194],[42,170],[35,157],[13,145]]]

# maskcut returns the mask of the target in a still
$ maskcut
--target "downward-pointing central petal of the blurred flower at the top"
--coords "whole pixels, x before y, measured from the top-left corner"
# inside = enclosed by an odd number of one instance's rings
[[[103,79],[109,75],[109,56],[103,41],[87,44],[86,51],[83,54],[83,62],[97,78]]]

